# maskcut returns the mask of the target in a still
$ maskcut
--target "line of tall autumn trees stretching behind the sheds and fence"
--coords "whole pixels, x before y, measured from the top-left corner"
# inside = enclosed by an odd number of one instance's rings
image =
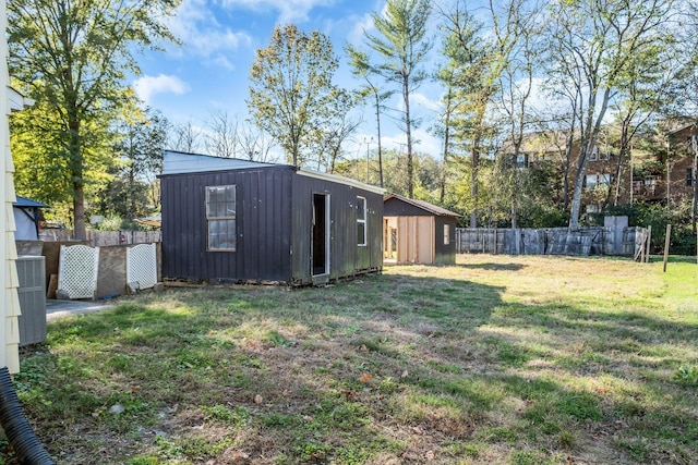
[[[9,2],[11,74],[36,101],[12,118],[15,184],[62,206],[77,237],[86,213],[157,210],[163,148],[265,161],[280,150],[289,163],[461,212],[472,228],[575,229],[601,145],[613,147],[615,172],[599,195],[618,207],[631,150],[672,156],[664,125],[696,118],[694,0],[490,0],[477,11],[465,0],[387,0],[342,53],[320,30],[276,26],[250,70],[249,114],[172,126],[124,76],[139,72],[134,50],[177,42],[166,20],[178,4]],[[341,60],[353,88],[336,84]],[[426,83],[441,89],[431,121],[417,99]],[[384,146],[386,119],[404,133],[400,149]],[[348,148],[362,124],[374,134],[365,158]],[[419,127],[440,154],[420,151]],[[549,157],[516,169],[535,151],[531,134]]]

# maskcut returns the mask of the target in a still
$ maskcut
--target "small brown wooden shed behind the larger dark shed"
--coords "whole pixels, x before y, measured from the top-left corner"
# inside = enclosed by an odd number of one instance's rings
[[[383,205],[385,264],[456,262],[458,213],[428,201],[390,195]]]

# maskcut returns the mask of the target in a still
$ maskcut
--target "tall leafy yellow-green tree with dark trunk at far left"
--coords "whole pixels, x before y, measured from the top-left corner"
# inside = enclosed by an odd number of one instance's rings
[[[10,74],[36,101],[34,114],[40,117],[24,121],[23,142],[28,154],[32,144],[41,147],[50,160],[48,170],[60,169],[45,178],[53,176],[62,186],[37,198],[68,193],[76,237],[85,236],[86,186],[109,166],[100,160],[109,152],[104,150],[107,127],[134,98],[125,85],[127,74],[140,71],[133,50],[174,40],[166,21],[178,4],[179,0],[8,4]]]

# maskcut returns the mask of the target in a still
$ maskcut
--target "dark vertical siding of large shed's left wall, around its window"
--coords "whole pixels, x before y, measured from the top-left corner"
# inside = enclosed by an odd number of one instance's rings
[[[222,281],[288,281],[292,170],[261,168],[164,175],[163,274]],[[206,250],[206,186],[234,184],[237,250]]]

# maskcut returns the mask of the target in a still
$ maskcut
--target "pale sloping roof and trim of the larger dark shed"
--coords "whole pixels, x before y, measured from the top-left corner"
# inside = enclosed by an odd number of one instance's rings
[[[290,164],[265,163],[261,161],[242,160],[240,158],[212,157],[209,155],[186,154],[174,150],[165,150],[163,174],[204,173],[212,171],[248,170],[254,168],[291,168],[300,175],[318,178],[339,184],[350,185],[364,191],[374,192],[376,194],[385,194],[385,189],[383,187],[365,184],[360,181],[336,174],[304,170]]]

